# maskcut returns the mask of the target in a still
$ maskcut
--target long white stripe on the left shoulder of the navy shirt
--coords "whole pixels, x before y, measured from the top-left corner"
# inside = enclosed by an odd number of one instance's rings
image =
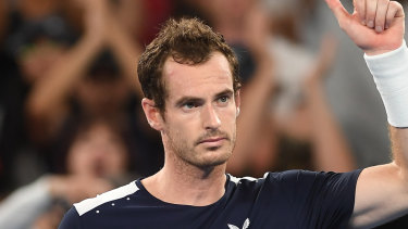
[[[96,198],[84,200],[79,203],[74,204],[75,209],[77,211],[78,215],[82,216],[85,213],[94,209],[95,207],[102,205],[107,202],[119,200],[125,198],[126,195],[133,194],[137,192],[139,188],[136,186],[135,181],[126,186],[122,186],[118,189],[113,189],[109,192],[104,192]]]

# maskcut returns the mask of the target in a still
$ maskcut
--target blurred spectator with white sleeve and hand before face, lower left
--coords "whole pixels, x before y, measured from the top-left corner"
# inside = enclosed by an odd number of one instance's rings
[[[30,228],[36,224],[34,228],[57,228],[72,203],[136,179],[128,174],[129,163],[135,161],[128,133],[120,120],[81,122],[62,149],[61,173],[42,176],[3,200],[0,227]]]

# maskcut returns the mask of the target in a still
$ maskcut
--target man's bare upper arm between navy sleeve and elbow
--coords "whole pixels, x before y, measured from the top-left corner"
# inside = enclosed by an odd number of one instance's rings
[[[394,164],[362,170],[356,187],[350,226],[371,228],[403,216],[408,208],[408,186],[400,168]]]

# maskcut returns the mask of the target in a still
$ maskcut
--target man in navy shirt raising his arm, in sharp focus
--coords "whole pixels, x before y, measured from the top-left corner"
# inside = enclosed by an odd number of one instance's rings
[[[75,204],[60,228],[368,228],[408,213],[403,8],[356,0],[349,15],[338,0],[326,2],[366,52],[391,124],[393,163],[346,174],[225,175],[239,114],[236,60],[209,27],[170,21],[138,65],[141,105],[162,136],[163,168]]]

